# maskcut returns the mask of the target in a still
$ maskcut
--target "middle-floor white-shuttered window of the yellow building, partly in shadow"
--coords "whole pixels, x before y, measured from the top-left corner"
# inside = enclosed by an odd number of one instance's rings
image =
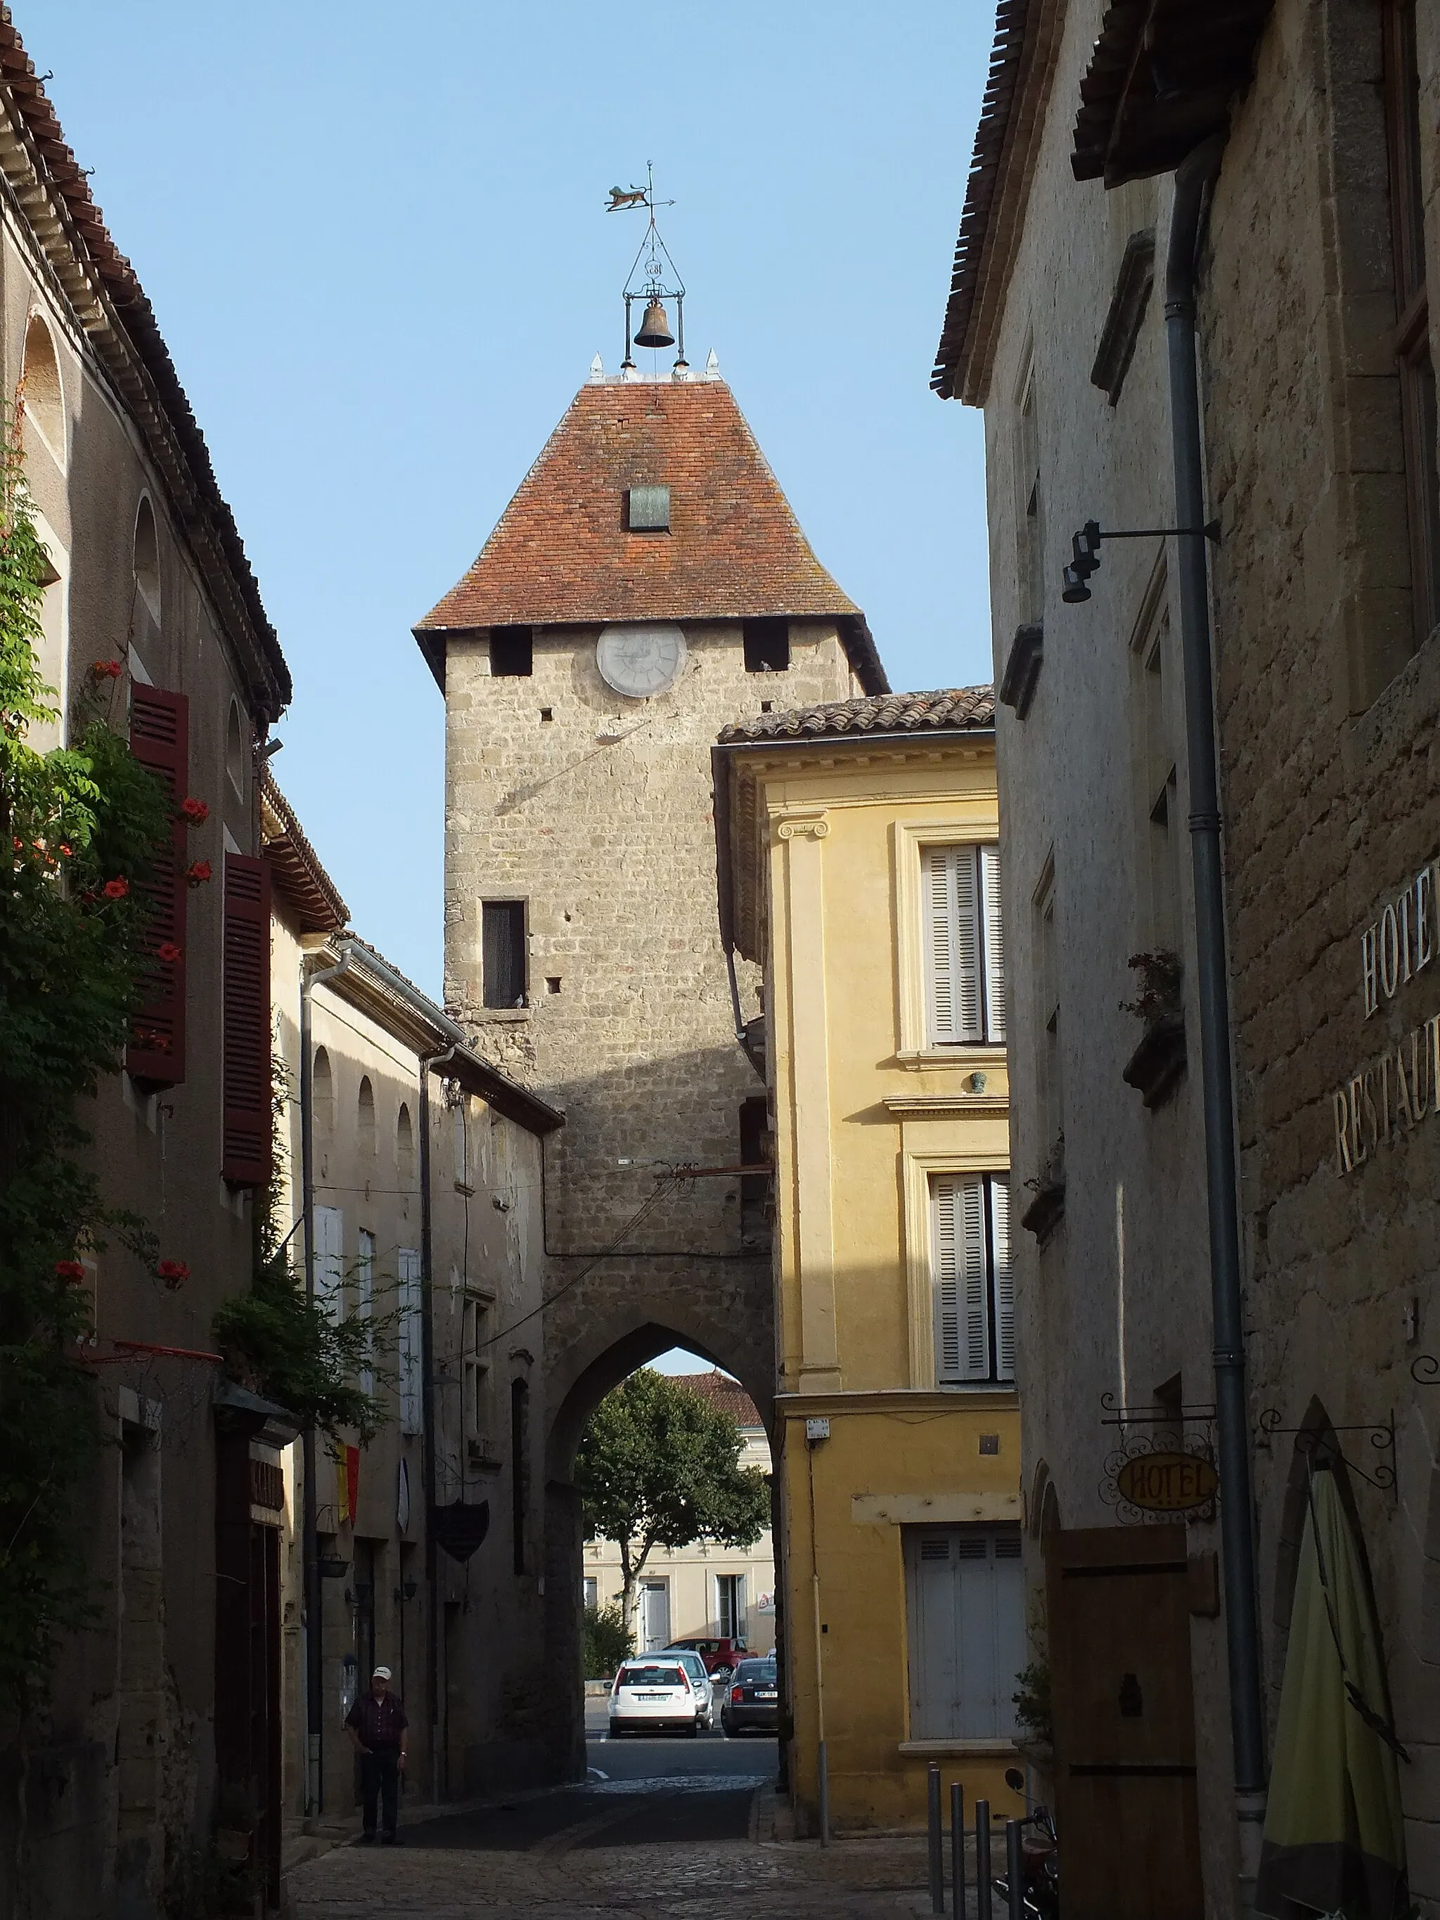
[[[931,1173],[929,1248],[937,1382],[1014,1380],[1008,1175]]]

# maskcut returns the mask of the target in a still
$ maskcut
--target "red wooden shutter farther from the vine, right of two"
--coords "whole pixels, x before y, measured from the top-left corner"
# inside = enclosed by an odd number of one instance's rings
[[[232,1187],[271,1177],[271,870],[225,856],[225,1162]]]

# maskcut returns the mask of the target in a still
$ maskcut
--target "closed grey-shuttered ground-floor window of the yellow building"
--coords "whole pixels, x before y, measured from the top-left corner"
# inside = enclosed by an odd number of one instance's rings
[[[1018,1526],[906,1526],[910,1740],[1014,1740],[1025,1665]]]

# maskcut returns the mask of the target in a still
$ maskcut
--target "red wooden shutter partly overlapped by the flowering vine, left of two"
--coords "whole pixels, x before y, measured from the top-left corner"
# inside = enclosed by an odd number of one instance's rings
[[[159,776],[179,808],[190,781],[190,701],[184,693],[134,682],[131,753]],[[125,1048],[125,1071],[152,1087],[175,1087],[184,1079],[186,862],[186,826],[177,818],[171,843],[142,889],[152,902],[146,929],[150,962],[144,1000],[131,1016],[131,1044]],[[161,947],[171,950],[171,958],[159,958]]]

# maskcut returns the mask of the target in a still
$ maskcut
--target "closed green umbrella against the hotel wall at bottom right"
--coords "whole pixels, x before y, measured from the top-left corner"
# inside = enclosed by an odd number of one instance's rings
[[[1309,1475],[1256,1907],[1275,1920],[1411,1912],[1380,1624],[1334,1475]]]

